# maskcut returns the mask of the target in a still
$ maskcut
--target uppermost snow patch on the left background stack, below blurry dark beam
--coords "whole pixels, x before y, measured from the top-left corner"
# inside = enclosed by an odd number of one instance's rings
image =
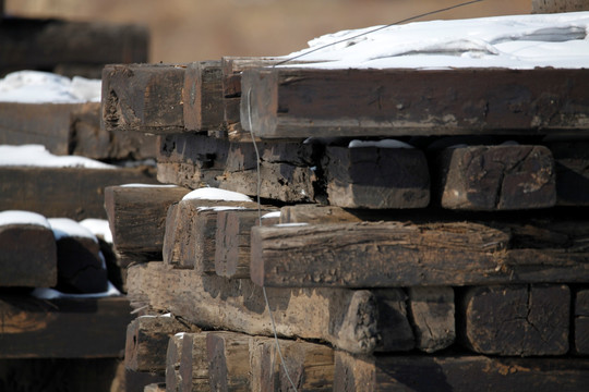
[[[101,81],[72,79],[40,71],[19,71],[0,78],[0,101],[22,103],[99,102]]]

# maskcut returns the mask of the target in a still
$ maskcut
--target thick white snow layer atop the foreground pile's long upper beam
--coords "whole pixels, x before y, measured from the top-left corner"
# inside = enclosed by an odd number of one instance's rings
[[[589,68],[589,12],[416,22],[373,32],[380,27],[384,26],[315,38],[308,49],[284,59],[299,57],[297,60],[320,63],[281,66]]]

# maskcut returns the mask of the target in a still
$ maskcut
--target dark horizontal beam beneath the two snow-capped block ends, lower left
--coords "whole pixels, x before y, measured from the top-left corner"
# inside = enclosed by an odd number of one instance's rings
[[[118,358],[131,320],[123,297],[0,298],[0,357]]]

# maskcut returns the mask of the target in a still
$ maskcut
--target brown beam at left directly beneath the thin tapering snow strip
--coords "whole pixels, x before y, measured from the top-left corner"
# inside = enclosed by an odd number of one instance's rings
[[[76,221],[85,218],[106,219],[105,187],[155,182],[155,173],[148,168],[101,170],[2,167],[0,210],[20,209]]]

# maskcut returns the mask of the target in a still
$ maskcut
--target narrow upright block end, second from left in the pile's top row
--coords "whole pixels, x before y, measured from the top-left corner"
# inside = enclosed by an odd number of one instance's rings
[[[184,127],[188,131],[225,128],[220,61],[188,64],[182,88]]]

